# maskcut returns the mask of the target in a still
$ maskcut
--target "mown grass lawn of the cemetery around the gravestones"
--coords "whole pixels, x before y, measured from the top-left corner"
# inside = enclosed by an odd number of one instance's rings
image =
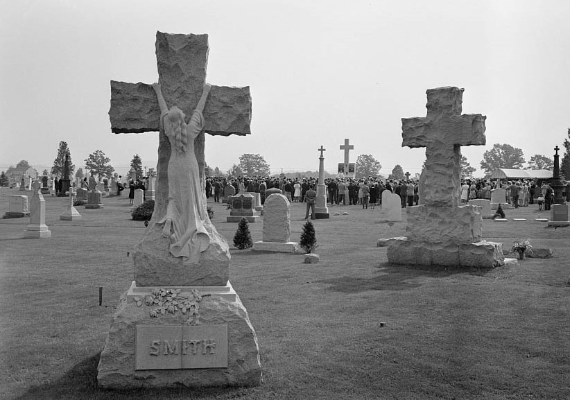
[[[21,193],[1,188],[0,214]],[[125,195],[77,207],[74,221],[59,220],[67,198],[45,199],[49,239],[24,239],[28,218],[0,220],[0,399],[570,398],[570,227],[536,222],[548,217],[536,205],[506,207],[507,223],[483,220],[483,236],[505,248],[530,238],[554,258],[494,270],[392,266],[377,240],[404,236],[405,223],[378,223],[377,210],[358,206],[314,221],[320,263],[232,248],[230,281],[257,333],[264,383],[111,392],[97,388],[96,367],[144,225]],[[237,223],[209,205],[232,247]],[[291,208],[298,241],[304,206]],[[254,241],[261,227],[250,223]]]

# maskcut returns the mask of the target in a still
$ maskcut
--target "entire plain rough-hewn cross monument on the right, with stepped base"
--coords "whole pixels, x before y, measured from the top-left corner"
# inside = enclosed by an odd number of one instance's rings
[[[481,209],[461,205],[461,146],[485,144],[481,114],[461,114],[463,89],[426,92],[427,116],[401,119],[402,146],[426,148],[421,205],[406,208],[406,238],[388,245],[388,261],[423,266],[493,268],[503,265],[502,243],[481,241]]]

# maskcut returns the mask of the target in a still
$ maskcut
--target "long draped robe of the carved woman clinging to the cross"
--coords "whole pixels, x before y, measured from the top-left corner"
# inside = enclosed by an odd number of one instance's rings
[[[162,114],[162,119],[166,113]],[[175,257],[184,257],[186,263],[198,263],[200,253],[204,252],[209,243],[209,234],[205,224],[209,222],[205,207],[202,207],[202,187],[196,155],[194,155],[194,139],[204,128],[205,120],[202,113],[194,110],[186,127],[188,142],[186,150],[175,148],[174,132],[166,132],[171,143],[169,160],[169,205],[166,216],[159,220],[165,224],[163,233],[170,237],[169,250]],[[170,232],[164,232],[168,227],[166,220],[171,219]]]

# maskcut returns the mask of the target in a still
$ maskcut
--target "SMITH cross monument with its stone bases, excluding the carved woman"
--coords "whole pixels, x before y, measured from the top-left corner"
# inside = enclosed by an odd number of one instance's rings
[[[168,105],[180,107],[187,115],[202,94],[208,51],[207,35],[157,33],[162,93]],[[209,134],[249,134],[249,87],[211,87],[202,114]],[[112,82],[113,132],[156,131],[159,117],[157,96],[150,85]],[[202,188],[204,138],[201,132],[194,141]],[[133,257],[135,281],[113,316],[98,365],[98,384],[115,389],[259,385],[257,337],[228,280],[230,249],[207,218],[203,191],[194,205],[200,215],[205,215],[202,227],[209,245],[203,251],[198,247],[199,261],[189,263],[182,256],[174,256],[170,238],[163,235],[161,220],[168,215],[169,207],[170,158],[171,145],[161,130],[155,209]],[[153,302],[159,302],[157,297],[166,297],[158,311]],[[169,297],[178,299],[178,307]]]

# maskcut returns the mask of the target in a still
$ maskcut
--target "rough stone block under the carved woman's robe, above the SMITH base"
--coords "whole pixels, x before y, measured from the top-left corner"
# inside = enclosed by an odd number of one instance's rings
[[[153,220],[155,217],[153,216]],[[135,280],[139,286],[225,285],[230,277],[230,247],[214,225],[205,224],[210,245],[200,253],[197,264],[184,263],[169,252],[170,239],[162,236],[162,227],[153,223],[146,228],[135,247]]]

